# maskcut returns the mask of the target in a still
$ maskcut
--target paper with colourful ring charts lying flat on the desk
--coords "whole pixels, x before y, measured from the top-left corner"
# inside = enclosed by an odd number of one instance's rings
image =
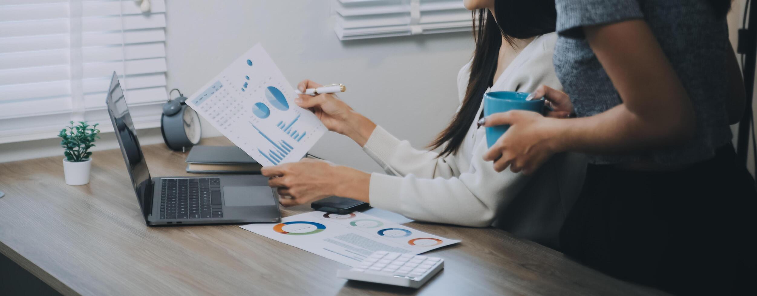
[[[355,267],[374,251],[421,254],[459,240],[445,239],[368,214],[311,211],[279,224],[249,224],[245,230]]]

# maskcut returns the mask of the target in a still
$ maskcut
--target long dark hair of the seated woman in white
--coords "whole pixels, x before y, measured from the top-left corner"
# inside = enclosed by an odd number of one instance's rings
[[[428,146],[444,146],[439,157],[457,153],[478,116],[484,92],[494,83],[502,39],[514,46],[515,39],[529,39],[555,31],[557,12],[554,0],[495,0],[494,15],[488,9],[473,11],[475,52],[463,105],[447,128]],[[446,145],[445,145],[446,143]]]

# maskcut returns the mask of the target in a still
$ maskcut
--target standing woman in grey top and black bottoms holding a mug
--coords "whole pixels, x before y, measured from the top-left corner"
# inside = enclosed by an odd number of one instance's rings
[[[567,94],[537,95],[578,119],[489,116],[487,126],[512,126],[484,159],[528,173],[553,153],[589,154],[561,231],[566,254],[674,294],[753,294],[757,193],[731,145],[745,95],[730,0],[556,8],[554,63]]]

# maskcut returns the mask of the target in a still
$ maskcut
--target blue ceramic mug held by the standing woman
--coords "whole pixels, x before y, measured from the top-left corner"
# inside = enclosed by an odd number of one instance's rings
[[[492,91],[484,94],[484,116],[509,110],[527,110],[544,114],[544,100],[525,100],[528,93],[517,91]],[[491,148],[505,134],[509,125],[486,128],[486,144]]]

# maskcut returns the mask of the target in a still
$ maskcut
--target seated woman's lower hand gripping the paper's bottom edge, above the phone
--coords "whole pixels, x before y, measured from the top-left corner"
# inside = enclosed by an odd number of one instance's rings
[[[260,172],[269,177],[268,186],[276,188],[282,196],[279,203],[285,207],[302,205],[328,196],[344,196],[369,202],[371,175],[354,168],[302,159],[300,162],[262,168]]]

